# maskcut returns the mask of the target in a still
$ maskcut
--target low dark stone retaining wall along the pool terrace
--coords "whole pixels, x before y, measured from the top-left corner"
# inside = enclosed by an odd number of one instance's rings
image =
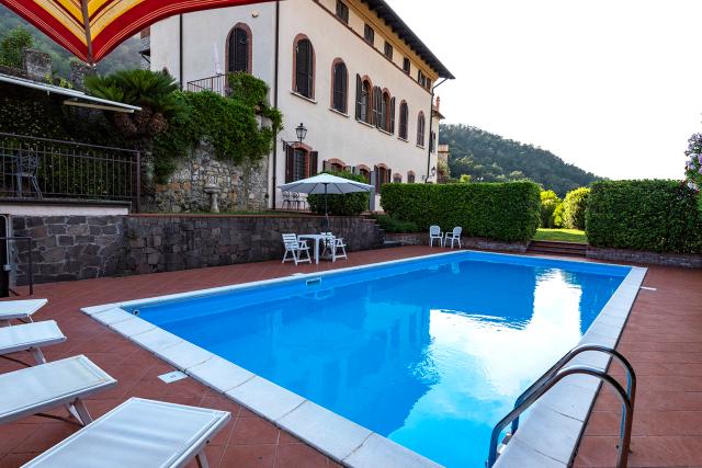
[[[348,251],[382,244],[375,221],[330,218]],[[35,283],[145,274],[276,260],[281,235],[322,230],[312,216],[14,216],[15,236],[33,239]],[[14,284],[29,282],[26,243],[14,246]]]

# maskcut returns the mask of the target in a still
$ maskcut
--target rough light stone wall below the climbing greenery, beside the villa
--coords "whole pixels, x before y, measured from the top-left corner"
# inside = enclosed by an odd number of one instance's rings
[[[258,210],[268,206],[268,159],[237,165],[215,158],[211,145],[200,145],[193,155],[178,162],[166,184],[156,185],[147,202],[157,213],[207,213],[214,187],[220,212]]]

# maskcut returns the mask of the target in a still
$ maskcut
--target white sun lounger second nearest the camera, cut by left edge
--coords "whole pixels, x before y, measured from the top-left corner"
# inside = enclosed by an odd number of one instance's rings
[[[116,385],[82,355],[0,374],[0,424],[60,407],[88,424],[92,418],[82,398]]]

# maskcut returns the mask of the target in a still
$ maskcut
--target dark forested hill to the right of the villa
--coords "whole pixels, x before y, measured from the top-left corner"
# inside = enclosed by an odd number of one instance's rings
[[[451,176],[487,182],[531,179],[563,197],[600,178],[568,164],[551,151],[506,139],[467,125],[442,125],[440,144],[449,145]]]

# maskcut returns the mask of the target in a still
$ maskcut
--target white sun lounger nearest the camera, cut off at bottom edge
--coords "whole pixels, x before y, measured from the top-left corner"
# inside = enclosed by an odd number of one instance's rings
[[[132,398],[24,467],[207,467],[205,446],[226,411]]]

